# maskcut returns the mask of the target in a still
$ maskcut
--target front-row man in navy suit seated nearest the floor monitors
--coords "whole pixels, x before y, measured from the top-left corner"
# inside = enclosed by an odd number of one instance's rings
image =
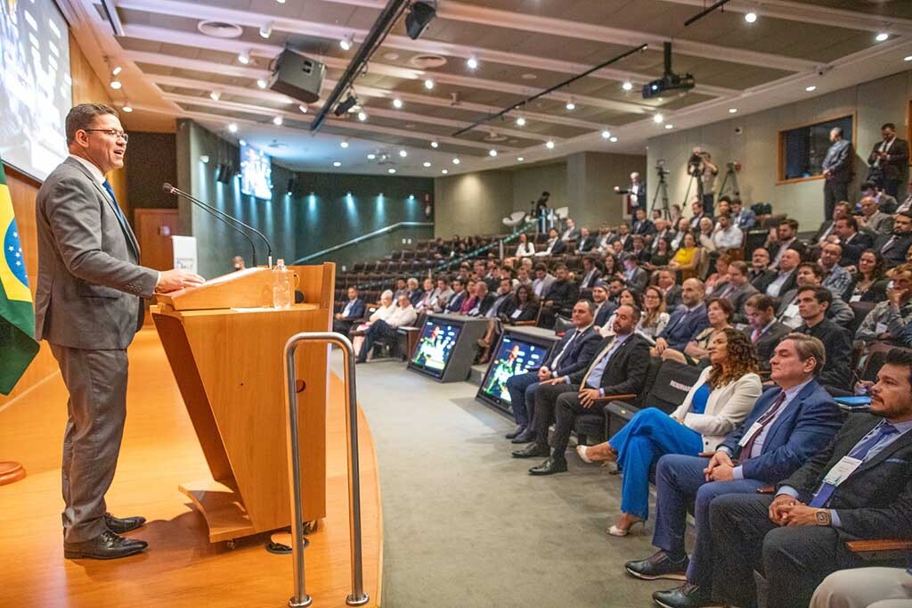
[[[513,407],[513,418],[516,428],[507,434],[513,443],[524,444],[532,436],[532,430],[525,434],[530,426],[531,412],[534,411],[535,390],[538,384],[557,376],[586,369],[596,354],[600,336],[593,325],[596,305],[587,299],[581,299],[573,307],[574,330],[567,331],[561,341],[554,344],[542,367],[530,372],[513,376],[507,381],[507,392],[510,393],[510,404]]]

